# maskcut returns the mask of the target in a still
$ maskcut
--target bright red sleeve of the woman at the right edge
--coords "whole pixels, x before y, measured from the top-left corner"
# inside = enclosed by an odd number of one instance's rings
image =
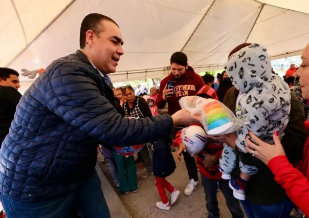
[[[309,182],[308,179],[285,156],[271,159],[268,167],[275,175],[275,180],[288,194],[293,203],[309,216]]]

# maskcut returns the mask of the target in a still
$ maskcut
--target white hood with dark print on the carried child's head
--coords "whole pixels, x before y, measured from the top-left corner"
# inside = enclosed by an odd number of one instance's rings
[[[267,49],[258,43],[244,47],[232,54],[224,69],[241,93],[261,88],[273,79],[271,59]]]

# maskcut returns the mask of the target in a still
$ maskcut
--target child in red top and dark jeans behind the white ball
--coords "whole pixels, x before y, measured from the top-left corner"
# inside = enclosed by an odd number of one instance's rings
[[[197,92],[197,96],[203,98],[212,98],[218,100],[216,92],[208,85],[204,85],[203,88]],[[199,124],[193,124],[199,125]],[[181,142],[181,130],[176,134],[174,144],[179,146],[179,152],[177,154],[178,160],[181,159],[181,152],[185,150],[185,145]],[[201,178],[203,181],[203,187],[206,199],[206,208],[208,210],[208,217],[220,217],[218,201],[217,201],[217,183],[222,191],[226,200],[227,206],[232,214],[233,218],[244,217],[239,201],[234,198],[233,190],[229,187],[229,181],[221,178],[221,172],[219,171],[219,158],[223,151],[223,143],[208,138],[207,145],[197,155],[196,164],[201,172]]]

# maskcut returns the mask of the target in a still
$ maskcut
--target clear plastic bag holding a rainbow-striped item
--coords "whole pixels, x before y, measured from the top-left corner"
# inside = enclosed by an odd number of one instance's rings
[[[222,102],[198,96],[185,96],[179,100],[183,109],[201,118],[205,132],[210,136],[222,136],[235,132],[245,124]]]

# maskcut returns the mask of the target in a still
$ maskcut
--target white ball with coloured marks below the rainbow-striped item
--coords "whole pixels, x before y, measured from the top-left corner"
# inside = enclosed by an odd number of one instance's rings
[[[204,129],[200,126],[189,126],[181,130],[180,135],[182,143],[185,144],[187,152],[191,157],[200,153],[206,143],[207,135]]]

